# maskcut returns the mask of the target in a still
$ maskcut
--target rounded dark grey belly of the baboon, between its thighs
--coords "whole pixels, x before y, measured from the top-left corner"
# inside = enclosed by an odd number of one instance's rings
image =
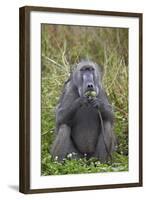
[[[100,130],[99,116],[95,108],[83,106],[73,117],[71,135],[81,153],[93,153]]]

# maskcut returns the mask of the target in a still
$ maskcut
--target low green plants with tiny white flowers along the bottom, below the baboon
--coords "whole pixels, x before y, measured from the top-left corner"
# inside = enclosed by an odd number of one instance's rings
[[[127,156],[114,153],[112,161],[100,163],[96,158],[64,159],[63,162],[53,161],[47,154],[42,160],[42,175],[64,175],[97,172],[121,172],[128,170]]]

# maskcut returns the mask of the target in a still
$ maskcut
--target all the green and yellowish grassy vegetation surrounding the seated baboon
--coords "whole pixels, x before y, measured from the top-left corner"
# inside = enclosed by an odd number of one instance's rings
[[[42,25],[41,164],[42,175],[128,170],[128,29]],[[49,154],[55,137],[55,107],[64,81],[74,64],[88,58],[100,64],[102,82],[115,113],[117,152],[100,163],[65,159],[59,163]]]

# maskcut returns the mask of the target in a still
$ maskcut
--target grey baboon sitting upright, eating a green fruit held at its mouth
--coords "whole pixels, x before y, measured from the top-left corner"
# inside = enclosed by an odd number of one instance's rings
[[[56,132],[51,154],[60,161],[73,153],[104,162],[114,151],[113,111],[97,64],[81,61],[66,81],[56,108]]]

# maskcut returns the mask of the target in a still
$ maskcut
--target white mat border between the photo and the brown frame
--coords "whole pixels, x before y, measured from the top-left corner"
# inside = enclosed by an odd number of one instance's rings
[[[129,28],[129,171],[41,176],[41,23]],[[139,181],[139,20],[84,14],[31,12],[30,189],[136,183]],[[136,113],[135,115],[133,114]]]

